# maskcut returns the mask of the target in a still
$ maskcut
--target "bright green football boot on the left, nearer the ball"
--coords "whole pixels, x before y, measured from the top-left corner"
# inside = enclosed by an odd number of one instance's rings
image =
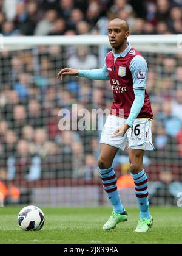
[[[110,216],[106,224],[104,224],[103,230],[107,231],[110,229],[114,229],[118,223],[124,221],[127,221],[127,212],[125,210],[122,214],[112,212],[112,215]]]

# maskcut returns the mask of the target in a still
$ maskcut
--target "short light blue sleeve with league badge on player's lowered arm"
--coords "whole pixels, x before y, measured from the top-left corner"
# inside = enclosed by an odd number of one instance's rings
[[[148,74],[146,60],[142,56],[137,55],[132,59],[129,68],[133,77],[133,89],[146,89]]]

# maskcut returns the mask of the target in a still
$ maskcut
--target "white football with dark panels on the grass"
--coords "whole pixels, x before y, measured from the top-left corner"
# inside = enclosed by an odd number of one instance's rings
[[[18,214],[18,225],[25,231],[38,231],[44,226],[45,216],[42,210],[30,205],[22,208]]]

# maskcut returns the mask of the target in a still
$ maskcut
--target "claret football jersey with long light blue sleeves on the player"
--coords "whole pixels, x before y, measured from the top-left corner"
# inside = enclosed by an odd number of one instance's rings
[[[110,51],[102,69],[79,70],[79,76],[110,80],[114,98],[111,112],[120,116],[123,109],[127,124],[132,126],[136,118],[153,119],[150,99],[145,90],[147,72],[146,60],[128,43],[121,54]]]

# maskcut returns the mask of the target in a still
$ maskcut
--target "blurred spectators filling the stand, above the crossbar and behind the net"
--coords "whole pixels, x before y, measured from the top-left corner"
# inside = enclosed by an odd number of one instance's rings
[[[0,30],[9,36],[106,34],[101,21],[107,23],[107,19],[118,17],[128,21],[131,34],[178,34],[182,33],[181,5],[178,0],[0,0]],[[78,104],[78,110],[109,108],[110,85],[72,77],[60,84],[56,79],[59,69],[65,66],[99,68],[95,52],[94,48],[59,46],[1,52],[1,177],[31,181],[98,176],[99,131],[61,131],[58,113],[63,108],[72,109],[72,104]],[[147,90],[155,113],[156,148],[147,156],[153,164],[152,171],[161,165],[170,171],[175,165],[179,172],[182,56],[146,57],[150,65]],[[120,155],[116,162],[120,163],[119,159]]]

